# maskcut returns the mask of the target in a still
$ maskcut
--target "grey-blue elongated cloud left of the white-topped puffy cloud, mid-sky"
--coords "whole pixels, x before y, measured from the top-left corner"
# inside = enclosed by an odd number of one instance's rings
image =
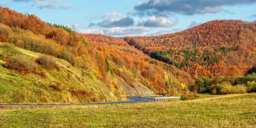
[[[119,19],[104,19],[99,23],[90,23],[90,26],[99,25],[101,27],[126,27],[134,24],[134,20],[131,17],[122,17]]]

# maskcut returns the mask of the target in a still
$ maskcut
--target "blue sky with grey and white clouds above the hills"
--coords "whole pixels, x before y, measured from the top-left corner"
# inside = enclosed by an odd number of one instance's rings
[[[256,20],[256,0],[0,0],[76,32],[114,37],[180,32],[211,20]]]

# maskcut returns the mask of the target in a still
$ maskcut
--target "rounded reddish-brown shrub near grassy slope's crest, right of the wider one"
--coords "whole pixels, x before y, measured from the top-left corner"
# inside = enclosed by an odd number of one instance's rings
[[[60,71],[60,67],[58,66],[58,64],[56,64],[55,61],[52,60],[52,58],[46,55],[43,55],[37,58],[36,62],[44,68],[56,69]]]

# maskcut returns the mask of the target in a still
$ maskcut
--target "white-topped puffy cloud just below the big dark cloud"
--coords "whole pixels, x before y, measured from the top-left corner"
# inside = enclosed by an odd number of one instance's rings
[[[175,26],[179,22],[179,19],[176,18],[175,21],[170,21],[165,17],[155,17],[151,16],[148,20],[145,21],[145,27],[171,27]]]

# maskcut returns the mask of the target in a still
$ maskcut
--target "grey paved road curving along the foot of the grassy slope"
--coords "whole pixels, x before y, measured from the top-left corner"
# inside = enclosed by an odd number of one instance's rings
[[[140,98],[138,96],[127,96],[129,101],[124,102],[101,102],[101,103],[78,103],[78,104],[0,104],[0,106],[31,106],[31,105],[54,105],[54,106],[61,106],[61,105],[103,105],[103,104],[128,104],[128,103],[138,103],[138,102],[149,102],[155,101],[152,98]]]

